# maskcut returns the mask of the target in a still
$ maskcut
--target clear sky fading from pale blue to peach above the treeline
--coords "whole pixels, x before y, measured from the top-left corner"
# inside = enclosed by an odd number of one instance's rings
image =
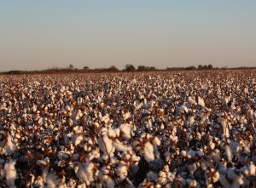
[[[0,0],[0,71],[256,66],[255,0]]]

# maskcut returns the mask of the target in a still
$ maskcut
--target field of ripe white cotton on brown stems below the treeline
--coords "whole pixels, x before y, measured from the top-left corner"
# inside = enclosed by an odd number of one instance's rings
[[[2,75],[0,185],[256,186],[255,77]]]

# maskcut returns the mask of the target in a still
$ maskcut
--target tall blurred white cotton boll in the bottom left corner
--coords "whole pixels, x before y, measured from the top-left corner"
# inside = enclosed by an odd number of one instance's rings
[[[5,171],[5,178],[6,178],[6,184],[11,187],[15,188],[15,179],[16,179],[16,169],[15,169],[15,161],[11,160],[4,165],[4,171]]]

